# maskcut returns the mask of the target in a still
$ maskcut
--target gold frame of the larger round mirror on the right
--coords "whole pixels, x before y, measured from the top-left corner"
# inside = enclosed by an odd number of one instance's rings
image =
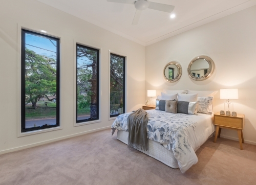
[[[202,77],[195,77],[193,76],[193,74],[190,72],[190,68],[191,68],[191,65],[198,59],[204,59],[208,62],[209,64],[209,70],[208,72],[202,76]],[[205,55],[200,55],[200,56],[197,56],[195,58],[193,58],[193,60],[191,60],[191,62],[188,64],[188,67],[187,67],[187,73],[188,73],[188,76],[193,79],[193,80],[196,80],[196,81],[202,81],[202,80],[206,80],[207,78],[209,78],[212,73],[214,73],[214,68],[215,68],[215,65],[214,65],[214,61],[208,57],[208,56],[205,56]]]

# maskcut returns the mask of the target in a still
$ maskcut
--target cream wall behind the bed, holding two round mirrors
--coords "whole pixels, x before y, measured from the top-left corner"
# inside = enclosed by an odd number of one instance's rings
[[[234,110],[245,114],[245,142],[256,144],[255,17],[256,6],[253,6],[147,46],[145,90],[157,89],[157,95],[160,95],[163,89],[238,88],[239,100],[232,101]],[[189,62],[198,55],[211,57],[216,65],[214,74],[205,81],[191,80],[187,74]],[[164,66],[172,60],[181,63],[183,74],[179,81],[168,83],[162,73]],[[224,103],[218,92],[214,111],[224,110]],[[221,135],[234,140],[238,138],[233,130],[222,129]]]

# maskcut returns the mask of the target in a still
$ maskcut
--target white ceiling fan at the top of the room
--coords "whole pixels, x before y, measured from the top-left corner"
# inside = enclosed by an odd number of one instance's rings
[[[132,25],[137,25],[140,19],[141,12],[147,8],[153,9],[153,10],[159,10],[163,12],[172,12],[174,10],[174,6],[172,5],[165,5],[161,3],[154,3],[149,2],[148,0],[106,0],[108,2],[113,3],[124,3],[124,4],[131,4],[134,5],[136,8],[136,13],[133,18]]]

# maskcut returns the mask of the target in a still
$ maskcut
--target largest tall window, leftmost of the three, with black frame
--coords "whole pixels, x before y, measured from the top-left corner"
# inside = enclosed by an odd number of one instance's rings
[[[22,132],[59,126],[59,39],[22,30]]]

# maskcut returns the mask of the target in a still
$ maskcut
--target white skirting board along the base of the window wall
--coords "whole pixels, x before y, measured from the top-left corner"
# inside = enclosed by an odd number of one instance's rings
[[[36,146],[39,146],[39,145],[48,144],[48,143],[52,143],[52,142],[56,142],[56,141],[60,141],[60,140],[65,140],[66,138],[71,138],[71,137],[76,137],[76,136],[79,136],[79,135],[84,135],[84,134],[88,134],[88,133],[92,133],[92,132],[97,132],[97,131],[105,130],[105,129],[108,129],[108,128],[110,129],[111,126],[102,127],[102,128],[98,128],[98,129],[94,129],[94,130],[85,131],[85,132],[80,132],[80,133],[76,133],[76,134],[71,134],[71,135],[67,135],[67,136],[63,136],[63,137],[58,137],[58,138],[54,138],[52,140],[33,143],[33,144],[30,144],[30,145],[25,145],[25,146],[21,146],[21,147],[2,150],[2,151],[0,151],[0,155],[4,154],[4,153],[14,152],[14,151],[23,150],[23,149],[26,149],[26,148],[31,148],[31,147],[36,147]]]

